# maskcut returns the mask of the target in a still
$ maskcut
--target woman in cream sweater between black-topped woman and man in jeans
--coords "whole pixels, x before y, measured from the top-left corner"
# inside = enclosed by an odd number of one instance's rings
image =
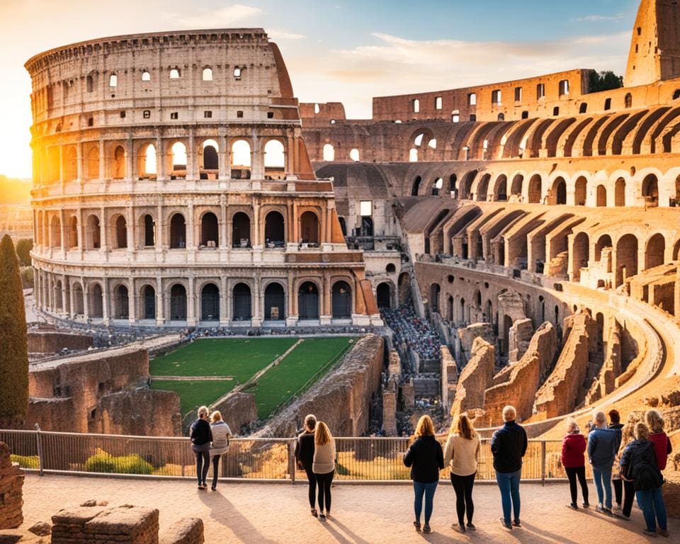
[[[458,528],[465,533],[465,514],[467,529],[475,531],[472,514],[472,485],[477,475],[477,459],[480,456],[480,436],[472,426],[470,419],[463,414],[451,426],[446,448],[444,448],[444,464],[450,467],[451,485],[455,491],[455,511],[458,514]],[[455,523],[451,525],[455,528]]]

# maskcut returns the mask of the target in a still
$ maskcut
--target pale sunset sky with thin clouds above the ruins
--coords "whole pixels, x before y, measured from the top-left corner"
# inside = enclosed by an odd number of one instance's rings
[[[625,71],[638,0],[0,0],[0,174],[30,177],[30,77],[52,47],[111,35],[265,28],[295,96],[342,102],[574,68]]]

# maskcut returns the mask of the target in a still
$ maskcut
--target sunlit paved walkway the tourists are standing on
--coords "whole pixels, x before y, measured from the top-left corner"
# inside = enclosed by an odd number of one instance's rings
[[[159,509],[163,530],[187,516],[205,523],[205,542],[243,543],[390,543],[466,542],[484,543],[625,543],[646,542],[641,531],[642,513],[633,511],[632,521],[608,518],[594,511],[566,508],[565,484],[541,487],[526,483],[522,492],[521,529],[500,526],[500,499],[495,485],[475,487],[475,533],[461,535],[450,528],[455,495],[441,484],[435,496],[431,520],[433,533],[415,533],[412,521],[412,488],[408,485],[337,485],[333,488],[333,518],[314,519],[307,504],[307,486],[220,482],[217,492],[198,491],[191,480],[132,480],[61,475],[27,475],[24,485],[23,527],[64,507],[88,499],[108,501],[110,506],[135,504]],[[594,489],[591,489],[594,500]],[[678,542],[680,520],[669,523]]]

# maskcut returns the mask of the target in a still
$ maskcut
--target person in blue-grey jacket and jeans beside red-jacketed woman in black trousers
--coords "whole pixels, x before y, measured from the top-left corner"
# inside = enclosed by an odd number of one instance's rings
[[[594,426],[588,435],[588,460],[593,467],[593,481],[597,492],[596,511],[611,516],[611,469],[618,450],[618,436],[607,429],[604,412],[594,414]]]

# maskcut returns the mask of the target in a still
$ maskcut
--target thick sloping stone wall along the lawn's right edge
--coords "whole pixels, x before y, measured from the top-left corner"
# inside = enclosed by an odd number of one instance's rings
[[[293,436],[310,413],[325,421],[334,436],[361,436],[368,429],[370,401],[380,390],[384,357],[382,336],[359,339],[338,368],[256,436]]]

